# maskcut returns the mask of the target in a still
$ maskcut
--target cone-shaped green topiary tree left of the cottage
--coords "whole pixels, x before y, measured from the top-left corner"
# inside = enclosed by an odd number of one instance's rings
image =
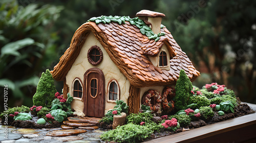
[[[41,78],[38,82],[36,93],[33,96],[33,104],[35,106],[42,106],[49,108],[52,101],[54,100],[54,95],[57,92],[54,85],[54,80],[49,69],[46,73],[42,73]]]

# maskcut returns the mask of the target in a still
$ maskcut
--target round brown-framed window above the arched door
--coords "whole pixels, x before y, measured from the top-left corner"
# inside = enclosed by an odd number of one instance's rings
[[[100,64],[103,59],[103,54],[100,47],[97,45],[92,46],[88,51],[87,58],[92,65]]]

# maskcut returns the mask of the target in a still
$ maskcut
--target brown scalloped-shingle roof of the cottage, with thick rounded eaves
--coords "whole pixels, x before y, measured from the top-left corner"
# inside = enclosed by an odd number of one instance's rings
[[[200,75],[166,27],[162,27],[160,31],[165,35],[156,41],[143,35],[140,29],[129,21],[98,24],[89,21],[77,29],[70,47],[51,71],[55,80],[65,79],[90,32],[93,32],[112,61],[135,87],[175,85],[181,69],[185,70],[190,81]],[[156,56],[163,44],[169,51],[173,51],[170,53],[174,55],[170,60],[170,70],[154,66],[148,58]]]

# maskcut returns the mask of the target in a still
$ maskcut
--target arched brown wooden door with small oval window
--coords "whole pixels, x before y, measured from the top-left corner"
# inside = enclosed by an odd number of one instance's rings
[[[103,117],[105,111],[105,78],[99,68],[90,68],[84,74],[84,107],[86,116]]]

